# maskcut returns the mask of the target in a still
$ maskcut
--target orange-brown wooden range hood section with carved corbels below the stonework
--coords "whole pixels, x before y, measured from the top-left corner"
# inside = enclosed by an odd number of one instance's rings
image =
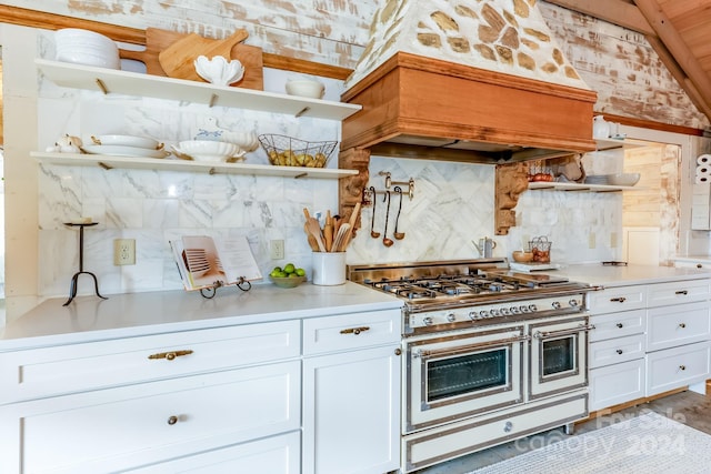
[[[509,179],[500,172],[521,180],[517,163],[595,149],[595,92],[407,52],[393,54],[341,100],[362,105],[342,124],[340,167],[360,173],[341,180],[341,215],[362,196],[371,154],[495,164],[499,184]],[[522,191],[515,191],[520,182],[504,188],[505,196],[499,185],[497,191],[499,234],[513,225],[511,210]]]

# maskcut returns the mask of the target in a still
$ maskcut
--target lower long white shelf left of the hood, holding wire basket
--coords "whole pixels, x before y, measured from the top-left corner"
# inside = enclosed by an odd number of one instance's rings
[[[330,168],[273,167],[271,164],[249,163],[211,163],[188,161],[174,158],[133,158],[108,157],[103,154],[80,153],[44,153],[32,152],[30,155],[40,163],[63,164],[70,167],[101,167],[104,170],[167,170],[206,172],[209,174],[251,174],[286,178],[338,179],[358,174],[357,170],[336,170]]]

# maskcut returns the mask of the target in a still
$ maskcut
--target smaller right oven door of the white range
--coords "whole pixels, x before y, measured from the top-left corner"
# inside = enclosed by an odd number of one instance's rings
[[[532,323],[529,399],[588,386],[588,316]]]

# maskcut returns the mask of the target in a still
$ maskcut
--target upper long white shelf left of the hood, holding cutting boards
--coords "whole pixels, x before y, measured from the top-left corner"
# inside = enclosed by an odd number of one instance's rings
[[[312,117],[343,120],[361,110],[361,105],[321,99],[308,99],[252,89],[213,85],[207,82],[131,71],[96,68],[68,62],[36,59],[42,73],[57,85],[119,93],[134,97],[181,100],[209,107],[231,107],[283,113],[293,117]]]

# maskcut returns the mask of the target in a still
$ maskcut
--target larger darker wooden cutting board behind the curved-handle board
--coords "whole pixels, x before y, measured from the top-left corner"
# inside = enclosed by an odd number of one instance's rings
[[[161,30],[159,28],[146,29],[146,50],[131,51],[119,49],[119,56],[123,59],[132,59],[146,64],[146,72],[153,75],[168,75],[160,65],[159,54],[167,50],[171,44],[187,34],[176,31]],[[199,54],[198,54],[199,56]],[[262,62],[262,49],[259,47],[248,46],[244,43],[234,44],[230,51],[230,59],[239,59],[244,67],[244,77],[241,81],[232,84],[233,87],[264,90],[264,74]],[[206,82],[196,73],[196,81]],[[179,78],[187,79],[187,78]]]

